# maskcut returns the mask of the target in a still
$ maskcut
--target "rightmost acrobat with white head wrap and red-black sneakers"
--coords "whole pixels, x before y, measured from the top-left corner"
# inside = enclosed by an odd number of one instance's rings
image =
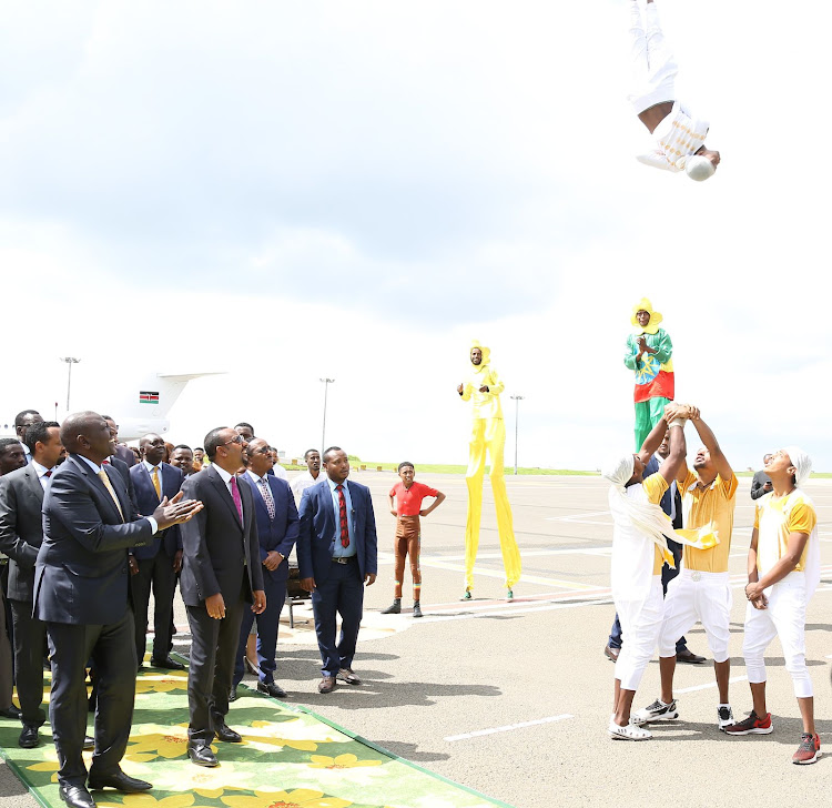
[[[754,709],[745,720],[726,728],[728,735],[768,735],[773,730],[765,707],[763,655],[779,637],[803,719],[800,746],[792,756],[795,764],[813,764],[821,754],[805,658],[806,605],[820,582],[818,515],[801,489],[811,471],[812,461],[798,446],[781,448],[765,464],[774,489],[757,501],[742,644]]]

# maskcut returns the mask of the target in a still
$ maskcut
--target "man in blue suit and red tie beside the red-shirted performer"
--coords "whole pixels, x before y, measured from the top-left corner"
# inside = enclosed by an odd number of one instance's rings
[[[324,452],[324,479],[306,488],[301,499],[297,564],[301,586],[312,593],[315,634],[323,678],[319,693],[332,693],[335,679],[359,685],[353,673],[364,584],[376,579],[376,521],[369,488],[347,483],[349,461],[339,446]],[[335,613],[341,638],[335,642]]]

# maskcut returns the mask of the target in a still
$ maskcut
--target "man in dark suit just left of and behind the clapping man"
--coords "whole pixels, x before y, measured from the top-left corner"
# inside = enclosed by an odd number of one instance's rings
[[[32,589],[34,562],[43,542],[43,492],[63,448],[60,432],[54,421],[40,421],[29,426],[26,441],[31,463],[0,478],[0,551],[11,559],[9,603],[14,623],[14,669],[23,724],[18,744],[24,749],[38,746],[38,728],[47,719],[41,709],[47,625],[32,617]]]

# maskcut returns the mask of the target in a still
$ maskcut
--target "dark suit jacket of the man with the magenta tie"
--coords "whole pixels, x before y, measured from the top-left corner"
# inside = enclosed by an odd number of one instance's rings
[[[190,522],[180,525],[183,549],[180,592],[186,606],[200,606],[217,593],[222,593],[226,604],[236,603],[241,580],[244,599],[250,603],[254,602],[252,590],[263,589],[252,489],[247,485],[239,488],[243,524],[229,487],[213,465],[186,477],[182,485],[185,499],[200,499],[204,505]]]

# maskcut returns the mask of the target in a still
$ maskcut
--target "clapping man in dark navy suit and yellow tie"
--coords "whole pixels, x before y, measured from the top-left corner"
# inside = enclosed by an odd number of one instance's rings
[[[106,422],[93,412],[61,426],[70,456],[43,499],[43,544],[34,566],[34,616],[45,622],[52,661],[50,717],[58,753],[59,794],[71,808],[93,808],[90,789],[134,792],[151,784],[128,777],[121,758],[135,695],[135,630],[129,606],[128,548],[148,545],[199,512],[199,502],[163,499],[140,517],[121,475],[102,466],[112,455]],[[85,665],[99,675],[95,750],[87,778],[81,757],[87,727]]]

